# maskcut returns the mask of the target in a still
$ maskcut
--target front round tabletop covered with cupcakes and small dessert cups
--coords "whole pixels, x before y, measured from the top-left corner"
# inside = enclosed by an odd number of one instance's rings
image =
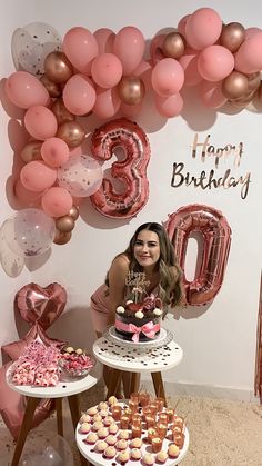
[[[187,454],[189,433],[174,408],[141,391],[124,401],[111,396],[82,413],[77,444],[97,466],[171,466]]]

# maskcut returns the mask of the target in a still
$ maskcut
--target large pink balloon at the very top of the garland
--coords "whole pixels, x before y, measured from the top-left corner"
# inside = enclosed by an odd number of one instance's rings
[[[212,8],[200,8],[187,20],[187,42],[196,50],[212,46],[222,31],[222,20]]]

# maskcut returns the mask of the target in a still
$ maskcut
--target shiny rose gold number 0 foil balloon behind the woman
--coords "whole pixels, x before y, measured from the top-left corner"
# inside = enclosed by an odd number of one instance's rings
[[[212,301],[221,288],[231,245],[231,228],[225,217],[213,207],[189,205],[169,216],[165,229],[183,270],[190,235],[202,235],[203,252],[199,274],[191,282],[184,276],[185,297],[191,306]]]

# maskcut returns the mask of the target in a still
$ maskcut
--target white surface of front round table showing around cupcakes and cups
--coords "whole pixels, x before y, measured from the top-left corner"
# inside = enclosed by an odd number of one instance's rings
[[[121,401],[119,401],[119,404],[121,404]],[[117,424],[119,424],[119,423],[117,422]],[[81,452],[81,454],[84,456],[84,458],[87,458],[94,466],[118,466],[118,465],[120,465],[120,463],[118,463],[115,457],[111,458],[111,459],[107,459],[107,458],[103,457],[102,454],[95,452],[94,445],[88,445],[87,443],[84,443],[84,438],[87,437],[87,434],[81,434],[79,427],[80,427],[80,424],[78,424],[77,429],[75,429],[75,439],[77,439],[78,448]],[[144,434],[142,434],[142,439],[143,439],[143,437],[145,437]],[[170,432],[168,432],[168,436],[163,440],[162,449],[167,450],[168,446],[172,442],[170,440]],[[189,432],[185,428],[184,429],[184,445],[183,445],[183,448],[180,450],[180,454],[179,454],[178,458],[168,458],[167,462],[164,463],[164,466],[174,466],[174,465],[178,465],[180,462],[182,462],[182,459],[184,458],[184,456],[188,452],[188,448],[189,448]],[[142,455],[144,453],[152,453],[151,445],[143,442],[142,447],[141,447],[141,453],[142,453]],[[135,460],[135,462],[130,459],[129,462],[124,463],[124,466],[133,466],[134,464],[137,466],[144,466],[141,459]]]

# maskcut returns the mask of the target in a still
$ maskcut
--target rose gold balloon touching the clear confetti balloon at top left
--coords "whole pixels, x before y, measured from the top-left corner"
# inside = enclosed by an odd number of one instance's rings
[[[63,52],[51,52],[44,59],[44,71],[53,82],[67,82],[73,75],[73,66]]]

